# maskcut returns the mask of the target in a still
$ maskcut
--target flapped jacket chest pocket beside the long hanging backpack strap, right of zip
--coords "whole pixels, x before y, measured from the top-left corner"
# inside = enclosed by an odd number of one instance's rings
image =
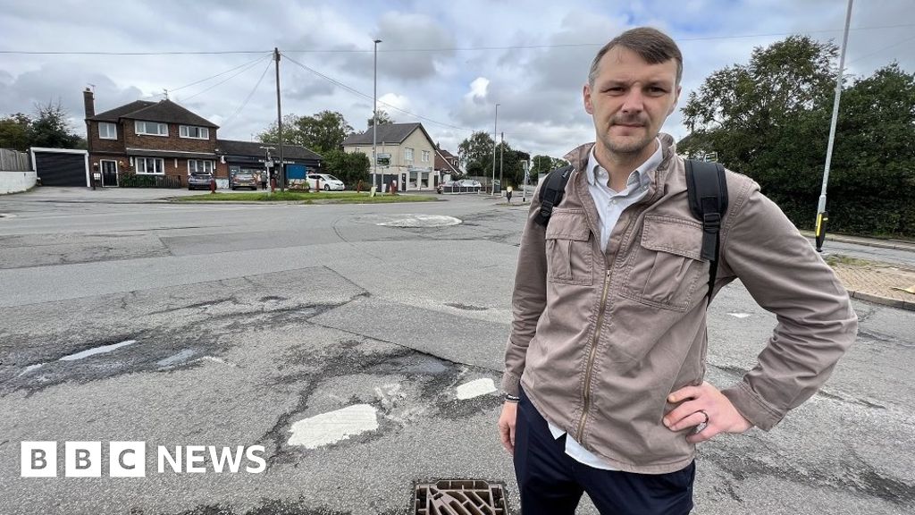
[[[708,261],[700,257],[702,224],[669,216],[646,216],[641,240],[632,249],[621,294],[633,301],[685,312],[699,284],[706,284]],[[705,281],[700,280],[705,278]],[[705,293],[705,289],[701,289]]]

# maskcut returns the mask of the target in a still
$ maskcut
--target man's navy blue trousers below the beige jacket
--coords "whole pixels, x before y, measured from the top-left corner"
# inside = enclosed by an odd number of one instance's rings
[[[601,470],[565,454],[524,392],[515,424],[515,476],[522,515],[574,515],[583,493],[601,515],[686,515],[693,510],[695,462],[669,474]]]

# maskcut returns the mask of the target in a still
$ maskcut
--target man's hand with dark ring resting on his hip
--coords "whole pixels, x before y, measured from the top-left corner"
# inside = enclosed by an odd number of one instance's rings
[[[671,431],[681,431],[707,422],[702,431],[686,437],[686,441],[692,444],[705,442],[718,433],[743,433],[753,427],[721,391],[707,382],[697,387],[678,389],[667,396],[667,401],[672,404],[683,402],[664,416],[664,425]],[[504,413],[503,408],[502,414]]]

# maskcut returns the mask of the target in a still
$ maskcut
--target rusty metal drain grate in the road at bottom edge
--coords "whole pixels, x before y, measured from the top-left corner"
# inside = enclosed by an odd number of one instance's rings
[[[474,479],[419,483],[413,504],[415,515],[508,515],[502,486]]]

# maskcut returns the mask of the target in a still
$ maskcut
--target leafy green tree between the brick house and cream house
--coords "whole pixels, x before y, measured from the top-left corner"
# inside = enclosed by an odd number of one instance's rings
[[[283,142],[300,145],[318,154],[339,150],[343,139],[350,134],[352,127],[336,111],[321,111],[313,116],[286,115],[283,118]],[[264,143],[277,143],[279,134],[276,124],[267,127],[258,138]]]

